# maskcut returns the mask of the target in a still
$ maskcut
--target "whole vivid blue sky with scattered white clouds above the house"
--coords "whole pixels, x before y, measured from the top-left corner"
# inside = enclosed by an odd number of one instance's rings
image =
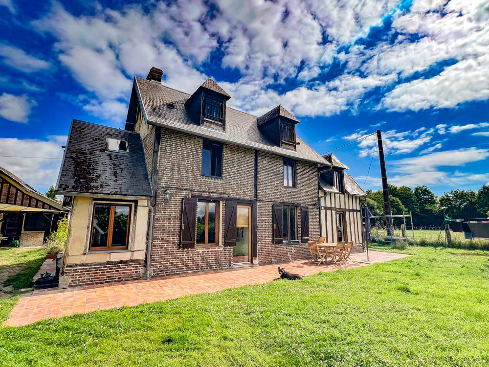
[[[489,183],[487,0],[0,0],[0,26],[0,165],[41,191],[71,118],[123,128],[152,66],[184,92],[211,76],[248,113],[282,104],[318,153],[381,129],[392,184]],[[333,153],[378,188],[374,138]]]

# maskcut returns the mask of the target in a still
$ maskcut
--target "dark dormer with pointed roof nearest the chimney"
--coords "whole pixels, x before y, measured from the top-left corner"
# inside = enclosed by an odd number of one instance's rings
[[[229,98],[231,96],[209,78],[185,102],[185,107],[195,123],[224,131]]]

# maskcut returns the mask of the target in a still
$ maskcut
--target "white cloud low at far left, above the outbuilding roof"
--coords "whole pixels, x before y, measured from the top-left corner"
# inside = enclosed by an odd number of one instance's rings
[[[0,138],[0,165],[19,176],[23,181],[45,192],[55,185],[58,178],[66,136],[50,136],[47,141],[39,139]],[[1,157],[43,157],[59,159],[35,159]]]

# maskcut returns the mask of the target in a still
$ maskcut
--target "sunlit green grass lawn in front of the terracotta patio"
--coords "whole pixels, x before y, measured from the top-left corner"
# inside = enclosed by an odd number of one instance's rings
[[[386,250],[386,248],[382,248]],[[0,329],[2,366],[488,366],[489,252]]]

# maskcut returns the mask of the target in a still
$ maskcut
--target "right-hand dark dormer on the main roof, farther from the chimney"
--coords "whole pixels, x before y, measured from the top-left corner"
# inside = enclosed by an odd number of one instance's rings
[[[299,120],[278,105],[256,119],[256,126],[274,143],[284,148],[295,149],[295,125]]]

